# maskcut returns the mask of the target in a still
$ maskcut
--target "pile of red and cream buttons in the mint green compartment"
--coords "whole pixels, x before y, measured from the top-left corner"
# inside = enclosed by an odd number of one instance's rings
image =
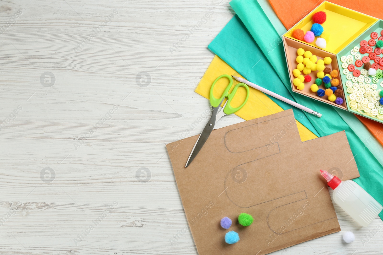
[[[341,57],[340,61],[347,79],[345,85],[350,108],[383,120],[383,91],[380,93],[381,89],[378,89],[378,84],[383,87],[383,81],[379,81],[383,77],[383,59],[379,56],[382,53],[383,30],[380,34],[379,37],[377,32],[372,32],[371,39],[361,41],[360,47],[355,46],[350,55]]]

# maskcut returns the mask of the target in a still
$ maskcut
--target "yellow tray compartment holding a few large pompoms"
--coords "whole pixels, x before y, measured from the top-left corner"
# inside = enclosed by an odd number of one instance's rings
[[[311,26],[313,25],[313,15],[318,11],[326,12],[327,19],[322,26],[324,31],[330,34],[327,47],[323,50],[333,54],[340,52],[340,50],[342,50],[346,45],[349,45],[351,41],[378,21],[377,18],[324,1],[307,16],[301,19],[301,21],[293,26],[293,28],[288,30],[283,36],[297,40],[293,37],[295,29],[300,28],[305,33],[310,31]],[[300,42],[318,48],[315,44],[316,39],[313,43],[307,43],[304,41]]]

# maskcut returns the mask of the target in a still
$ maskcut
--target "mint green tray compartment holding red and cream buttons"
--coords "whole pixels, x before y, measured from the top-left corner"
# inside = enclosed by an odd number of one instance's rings
[[[362,66],[361,67],[358,67],[358,65],[361,64],[361,62],[357,63],[358,59],[359,60],[362,60],[363,57],[365,56],[369,56],[369,53],[364,53],[362,54],[362,51],[360,50],[360,48],[362,48],[362,45],[365,45],[365,44],[362,44],[361,45],[361,42],[362,41],[366,41],[367,42],[367,46],[370,46],[368,45],[368,41],[370,39],[372,39],[372,33],[373,32],[376,32],[378,38],[375,39],[375,42],[378,41],[378,39],[381,39],[383,40],[383,36],[381,35],[381,31],[383,30],[383,21],[382,20],[378,20],[375,24],[373,24],[370,28],[368,28],[365,32],[363,32],[360,36],[358,36],[354,41],[352,41],[349,45],[347,45],[343,50],[341,50],[338,54],[337,54],[337,60],[338,60],[338,64],[339,64],[339,70],[341,72],[341,79],[343,81],[343,88],[344,88],[344,92],[345,92],[345,97],[346,97],[346,102],[347,102],[347,109],[350,111],[350,112],[353,112],[355,114],[359,114],[359,115],[362,115],[363,117],[367,117],[369,119],[372,119],[372,120],[376,120],[376,121],[379,121],[379,122],[382,122],[382,118],[378,118],[378,117],[381,117],[380,115],[383,115],[383,109],[381,109],[381,106],[380,104],[376,104],[376,101],[379,102],[379,99],[380,99],[380,96],[375,96],[375,100],[372,100],[373,104],[375,105],[372,109],[370,110],[367,110],[367,112],[365,112],[364,110],[362,110],[362,108],[357,108],[355,107],[355,102],[357,103],[357,101],[360,101],[359,99],[356,100],[356,97],[354,100],[350,100],[350,94],[352,94],[353,91],[359,91],[359,90],[362,90],[360,86],[361,84],[365,84],[365,86],[363,86],[364,89],[371,89],[372,91],[376,91],[374,92],[375,93],[378,93],[380,91],[380,89],[383,89],[383,78],[382,78],[382,74],[376,74],[376,76],[367,76],[367,77],[364,77],[363,74],[360,74],[359,76],[354,76],[353,72],[352,71],[348,71],[349,72],[349,77],[347,78],[347,75],[343,72],[345,69],[348,70],[348,66],[350,65],[349,63],[347,63],[347,61],[345,62],[347,67],[346,68],[342,68],[342,61],[341,61],[341,58],[344,56],[344,57],[349,57],[351,56],[352,57],[352,65],[355,66],[355,69],[356,70],[359,70],[361,71],[362,73],[365,72],[365,69],[363,68],[364,67],[364,63],[362,62]],[[376,36],[375,34],[375,36]],[[355,52],[354,50],[354,47],[358,47],[359,49],[356,49],[357,52]],[[372,49],[372,52],[375,51],[375,49],[377,48],[376,45],[372,45],[370,46]],[[352,50],[354,50],[352,52]],[[380,54],[378,54],[380,53]],[[378,49],[378,52],[376,52],[376,56],[377,57],[383,57],[383,54],[381,54],[381,50]],[[375,58],[376,59],[376,58]],[[375,60],[374,59],[370,59],[369,61],[371,64],[375,63]],[[380,64],[383,64],[383,62],[380,62]],[[383,72],[383,65],[380,65],[379,62],[375,64],[376,68],[378,68],[378,72]],[[345,66],[344,66],[345,67]],[[352,69],[352,68],[351,68]],[[347,71],[346,71],[347,72]],[[356,75],[358,75],[357,73],[355,73]],[[352,77],[357,77],[359,80],[356,80],[356,78],[352,78]],[[362,81],[362,78],[360,77],[363,77],[363,81]],[[354,80],[353,80],[354,79]],[[362,83],[363,82],[363,83]],[[357,83],[358,86],[354,86],[354,83]],[[349,92],[351,93],[348,93],[347,92],[347,88],[348,87],[351,87],[352,89],[349,90]],[[356,88],[355,88],[356,87]],[[365,96],[365,94],[363,95]],[[363,96],[361,97],[363,99]],[[372,98],[374,96],[372,95]],[[372,99],[371,98],[371,99]],[[352,105],[350,105],[350,101],[354,101],[352,102]],[[362,101],[360,101],[362,102]],[[366,101],[365,101],[366,102]],[[368,107],[368,103],[365,104],[367,107]],[[353,106],[353,108],[352,108]],[[372,105],[370,105],[372,107]],[[373,112],[375,112],[375,114],[372,114],[372,110],[373,109],[376,109],[378,110],[378,117],[376,117],[376,110],[374,110]],[[380,110],[380,112],[379,112]],[[370,111],[370,112],[368,112]]]

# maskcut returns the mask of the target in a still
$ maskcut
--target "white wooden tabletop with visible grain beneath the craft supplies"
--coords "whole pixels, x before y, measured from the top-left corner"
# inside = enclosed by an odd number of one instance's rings
[[[228,3],[0,2],[0,254],[197,254],[190,232],[170,241],[187,221],[165,144],[205,125],[189,127],[209,107],[193,91]],[[380,219],[359,229],[336,212],[354,243],[273,254],[383,253]]]

